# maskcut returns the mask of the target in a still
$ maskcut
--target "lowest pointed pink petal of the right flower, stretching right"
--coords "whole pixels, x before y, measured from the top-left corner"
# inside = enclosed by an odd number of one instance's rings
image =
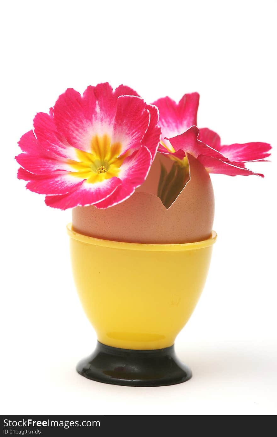
[[[254,174],[256,176],[264,177],[262,173],[254,173],[251,170],[244,168],[244,165],[238,162],[228,160],[223,161],[212,156],[203,155],[198,156],[197,159],[203,164],[209,173],[220,173],[228,176],[249,176]]]

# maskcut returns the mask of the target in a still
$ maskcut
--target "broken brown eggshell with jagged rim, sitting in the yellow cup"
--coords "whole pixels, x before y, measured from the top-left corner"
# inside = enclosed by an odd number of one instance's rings
[[[187,157],[189,181],[168,209],[152,194],[157,191],[160,171],[160,163],[155,160],[144,187],[148,192],[137,190],[112,208],[74,208],[73,229],[96,238],[131,243],[190,243],[209,238],[214,221],[213,187],[203,165],[193,156]]]

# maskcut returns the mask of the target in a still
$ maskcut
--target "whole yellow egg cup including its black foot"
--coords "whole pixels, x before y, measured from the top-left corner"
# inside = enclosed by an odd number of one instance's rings
[[[78,373],[141,387],[191,378],[174,341],[203,290],[216,233],[196,243],[144,244],[67,231],[77,292],[98,337]]]

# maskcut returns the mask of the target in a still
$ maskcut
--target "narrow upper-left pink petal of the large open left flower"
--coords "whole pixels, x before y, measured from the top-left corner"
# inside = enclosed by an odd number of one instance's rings
[[[57,132],[53,116],[39,112],[34,118],[34,131],[39,143],[37,154],[50,158],[74,159],[74,149],[65,138]]]

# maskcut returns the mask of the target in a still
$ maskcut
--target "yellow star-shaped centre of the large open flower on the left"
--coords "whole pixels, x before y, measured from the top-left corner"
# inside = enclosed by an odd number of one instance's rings
[[[109,135],[94,135],[91,139],[91,151],[76,149],[76,160],[69,160],[73,168],[73,176],[87,179],[89,183],[101,182],[110,177],[118,176],[128,153],[119,156],[122,150],[120,143],[111,144]]]

